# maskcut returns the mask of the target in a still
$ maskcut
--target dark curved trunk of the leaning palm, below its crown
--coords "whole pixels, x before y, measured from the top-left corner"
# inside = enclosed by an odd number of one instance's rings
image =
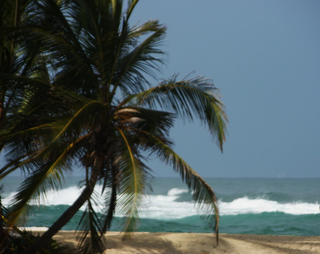
[[[33,254],[44,244],[50,240],[50,238],[56,234],[61,227],[63,227],[80,209],[80,207],[88,200],[92,194],[93,188],[96,184],[100,169],[102,167],[103,157],[96,157],[93,163],[91,176],[87,187],[82,191],[78,199],[52,224],[52,226],[41,235],[41,237],[34,242],[28,249],[22,251],[20,254]]]

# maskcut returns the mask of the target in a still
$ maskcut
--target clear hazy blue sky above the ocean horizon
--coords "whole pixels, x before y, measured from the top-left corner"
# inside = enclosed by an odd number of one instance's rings
[[[198,121],[177,121],[170,132],[202,177],[320,177],[319,13],[320,1],[139,1],[131,25],[158,19],[168,27],[158,77],[195,70],[221,89],[223,153]],[[178,176],[157,160],[148,166]]]

